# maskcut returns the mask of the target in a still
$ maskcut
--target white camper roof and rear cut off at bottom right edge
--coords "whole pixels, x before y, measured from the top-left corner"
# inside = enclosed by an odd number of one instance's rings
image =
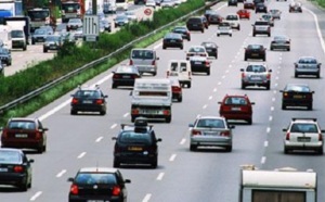
[[[317,175],[292,167],[274,171],[244,166],[240,171],[239,202],[317,202]]]

